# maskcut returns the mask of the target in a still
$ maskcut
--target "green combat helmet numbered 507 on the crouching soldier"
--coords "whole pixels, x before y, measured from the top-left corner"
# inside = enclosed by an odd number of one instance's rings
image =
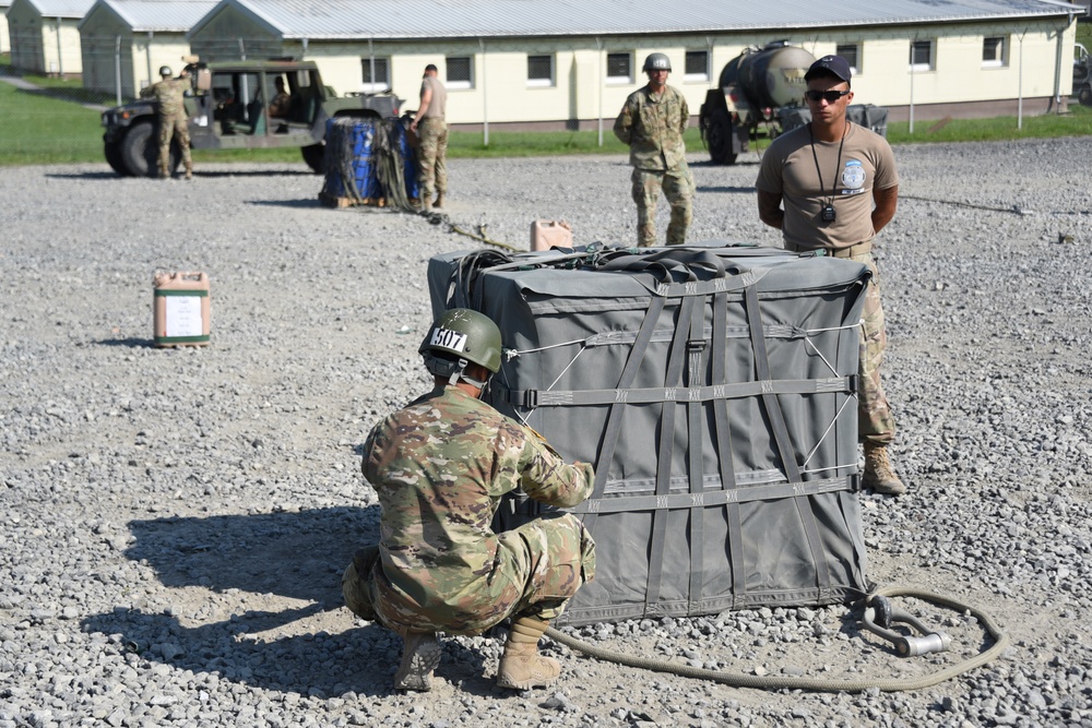
[[[500,329],[484,313],[451,309],[432,322],[417,351],[437,377],[447,377],[452,384],[462,378],[484,386],[485,382],[466,377],[463,369],[476,363],[492,373],[500,370]]]

